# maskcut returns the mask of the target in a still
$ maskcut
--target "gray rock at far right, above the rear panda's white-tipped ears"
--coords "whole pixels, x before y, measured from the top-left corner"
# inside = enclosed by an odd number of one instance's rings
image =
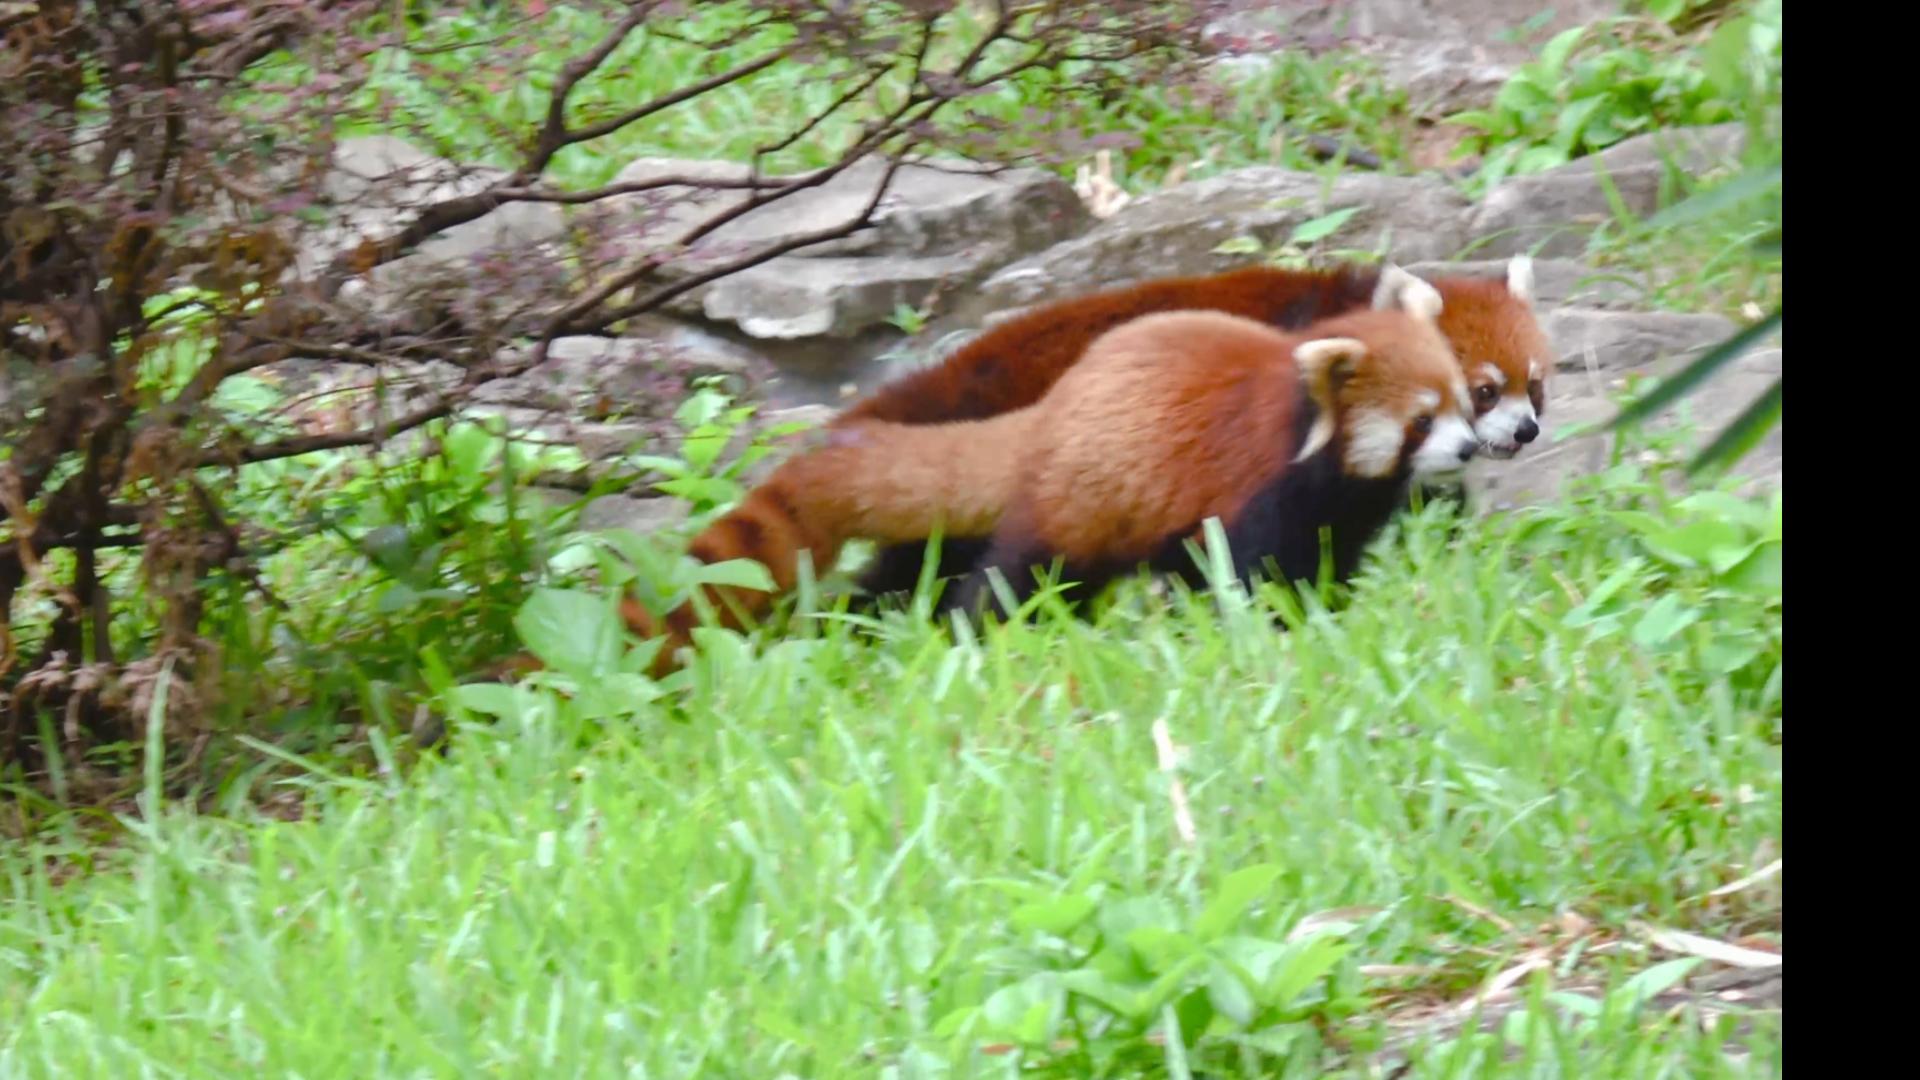
[[[1594,231],[1613,219],[1599,175],[1613,183],[1620,204],[1636,217],[1674,194],[1672,169],[1697,175],[1732,165],[1745,142],[1741,125],[1657,131],[1557,169],[1513,177],[1480,200],[1471,236],[1482,256],[1578,256]],[[1668,163],[1670,161],[1670,163]]]

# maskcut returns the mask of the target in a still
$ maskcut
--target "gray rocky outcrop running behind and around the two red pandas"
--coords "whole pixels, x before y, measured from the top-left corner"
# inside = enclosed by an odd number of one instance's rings
[[[476,407],[564,438],[589,457],[614,457],[659,438],[687,386],[708,375],[768,404],[824,413],[899,371],[893,354],[904,334],[889,319],[900,306],[937,300],[939,319],[914,344],[954,348],[979,327],[1033,304],[1254,263],[1304,223],[1350,211],[1338,231],[1313,244],[1315,252],[1386,252],[1415,273],[1484,277],[1501,277],[1511,252],[1536,254],[1536,294],[1559,354],[1548,436],[1519,459],[1473,467],[1484,505],[1507,505],[1551,494],[1567,475],[1601,461],[1594,448],[1603,440],[1555,444],[1555,432],[1607,415],[1632,375],[1670,371],[1736,329],[1720,315],[1636,309],[1647,302],[1647,282],[1580,261],[1592,229],[1613,213],[1597,171],[1630,211],[1649,213],[1674,169],[1711,171],[1736,158],[1741,140],[1738,127],[1632,138],[1561,169],[1509,179],[1478,204],[1440,177],[1357,173],[1329,181],[1250,167],[1154,192],[1100,221],[1050,173],[910,165],[895,177],[870,229],[689,290],[668,311],[632,321],[620,338],[561,338],[541,367],[490,384]],[[378,138],[344,142],[336,167],[328,190],[348,209],[303,256],[309,261],[332,258],[357,236],[382,234],[407,204],[476,190],[497,177]],[[649,158],[620,179],[745,175],[730,163]],[[868,204],[877,179],[879,163],[862,163],[789,200],[749,209],[685,250],[659,248],[672,258],[657,282],[845,223]],[[624,236],[624,254],[634,256],[674,242],[747,198],[743,190],[666,188],[624,196],[595,213],[603,223],[628,223],[616,234]],[[378,296],[392,288],[401,296],[401,282],[474,273],[499,252],[538,265],[563,225],[553,206],[503,206],[382,267],[363,290]],[[1463,252],[1469,258],[1453,261]],[[409,313],[405,304],[388,302],[388,309]],[[1692,407],[1699,436],[1745,407],[1778,375],[1778,363],[1776,348],[1757,354],[1734,377],[1705,388]],[[1778,430],[1743,469],[1778,479]]]

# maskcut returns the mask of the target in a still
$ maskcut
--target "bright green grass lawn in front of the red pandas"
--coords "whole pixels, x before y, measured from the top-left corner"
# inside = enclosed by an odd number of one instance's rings
[[[1359,1076],[1530,947],[1521,1019],[1413,1076],[1778,1074],[1778,1015],[1632,1007],[1680,974],[1640,922],[1780,942],[1776,884],[1703,899],[1780,853],[1778,503],[1620,465],[1459,538],[1436,509],[1334,615],[801,619],[601,719],[461,692],[503,717],[445,759],[282,771],[300,821],[159,809],[156,771],[119,844],[0,855],[0,1074]]]

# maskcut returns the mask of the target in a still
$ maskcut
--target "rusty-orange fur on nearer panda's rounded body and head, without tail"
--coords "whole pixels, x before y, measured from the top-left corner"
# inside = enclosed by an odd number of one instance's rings
[[[1309,334],[1219,311],[1148,315],[1094,340],[1033,405],[1008,503],[1023,540],[1102,567],[1142,561],[1208,517],[1231,525],[1292,463],[1306,405],[1294,350],[1311,338],[1367,346],[1338,388],[1315,392],[1336,427],[1361,407],[1411,417],[1423,390],[1457,407],[1446,338],[1402,311],[1356,311]]]

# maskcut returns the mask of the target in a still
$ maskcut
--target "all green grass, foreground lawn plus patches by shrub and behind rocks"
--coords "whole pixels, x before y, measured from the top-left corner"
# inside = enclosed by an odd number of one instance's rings
[[[593,29],[547,19],[549,40]],[[649,63],[611,65],[588,108],[747,56],[636,48]],[[390,54],[376,90],[432,150],[490,160],[543,75],[463,102],[430,69],[484,85],[470,56]],[[747,156],[824,100],[803,75],[555,171]],[[1098,123],[1140,138],[1121,179],[1150,186],[1177,163],[1298,165],[1283,121],[1398,167],[1400,110],[1356,61],[1283,58],[1215,102],[1148,86]],[[1655,271],[1649,304],[1770,304],[1768,198],[1620,221],[1594,258]],[[733,419],[687,409],[720,436],[636,467],[712,509],[739,494]],[[710,636],[662,692],[630,675],[645,651],[607,632],[605,592],[572,588],[611,563],[566,513],[499,498],[478,429],[440,436],[424,459],[244,473],[288,609],[215,578],[213,751],[169,771],[104,746],[48,792],[10,788],[29,836],[0,849],[0,1076],[1375,1076],[1402,1049],[1423,1078],[1782,1070],[1778,1013],[1644,1003],[1688,974],[1647,926],[1782,944],[1778,878],[1709,896],[1782,847],[1778,502],[1678,500],[1622,463],[1459,532],[1428,511],[1334,613],[1127,586],[1094,623],[954,642],[808,598],[789,626]],[[541,465],[568,463],[511,471]],[[557,621],[516,621],[541,577]],[[516,626],[578,671],[440,694]],[[449,749],[426,755],[409,717],[449,701]],[[1185,748],[1171,774],[1156,721]],[[1513,1015],[1402,1047],[1538,957]]]

